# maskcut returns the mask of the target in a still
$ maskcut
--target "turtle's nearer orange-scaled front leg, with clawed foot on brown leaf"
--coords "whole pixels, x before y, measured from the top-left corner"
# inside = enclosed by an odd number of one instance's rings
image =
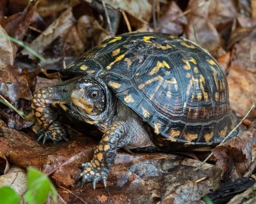
[[[76,182],[79,180],[82,180],[82,184],[92,182],[95,189],[97,182],[102,180],[106,187],[109,170],[115,162],[116,150],[125,147],[130,141],[124,122],[115,122],[102,136],[93,159],[79,166],[82,172],[77,175]]]

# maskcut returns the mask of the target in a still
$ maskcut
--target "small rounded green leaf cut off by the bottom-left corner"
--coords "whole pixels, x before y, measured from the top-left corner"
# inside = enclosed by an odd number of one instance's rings
[[[19,195],[9,186],[0,187],[1,204],[17,204],[20,201]]]

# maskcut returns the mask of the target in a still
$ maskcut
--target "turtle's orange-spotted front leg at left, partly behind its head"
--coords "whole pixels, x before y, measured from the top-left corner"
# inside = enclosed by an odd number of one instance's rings
[[[66,131],[58,121],[58,113],[52,108],[54,98],[52,98],[52,87],[46,87],[40,89],[33,94],[31,108],[36,117],[38,124],[42,126],[42,129],[38,131],[38,141],[52,140],[53,143],[58,143],[60,140],[65,139]]]

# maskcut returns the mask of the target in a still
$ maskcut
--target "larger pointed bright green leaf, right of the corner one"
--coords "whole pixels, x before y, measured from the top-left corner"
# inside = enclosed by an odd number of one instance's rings
[[[28,168],[28,191],[24,199],[29,203],[44,203],[51,193],[52,200],[57,203],[57,192],[51,180],[34,168]]]

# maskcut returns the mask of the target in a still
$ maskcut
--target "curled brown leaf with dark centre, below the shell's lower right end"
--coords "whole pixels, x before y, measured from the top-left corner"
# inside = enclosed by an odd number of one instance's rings
[[[252,162],[252,145],[256,131],[251,128],[218,145],[214,150],[217,165],[232,179],[243,177]]]

